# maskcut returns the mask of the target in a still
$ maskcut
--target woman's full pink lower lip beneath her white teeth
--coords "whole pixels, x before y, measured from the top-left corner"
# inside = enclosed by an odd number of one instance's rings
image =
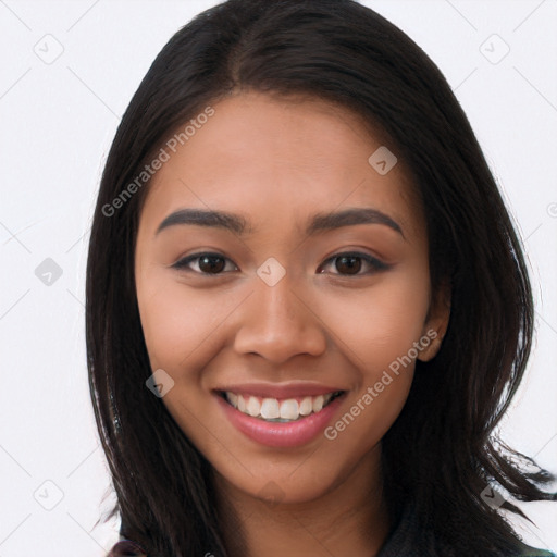
[[[323,432],[346,393],[336,397],[317,413],[310,413],[294,422],[265,422],[259,418],[240,412],[220,395],[215,395],[226,418],[249,438],[269,447],[297,447],[312,441]]]

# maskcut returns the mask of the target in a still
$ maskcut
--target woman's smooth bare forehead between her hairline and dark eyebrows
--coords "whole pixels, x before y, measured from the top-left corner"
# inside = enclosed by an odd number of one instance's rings
[[[403,161],[380,174],[369,159],[385,146],[351,111],[258,92],[212,108],[214,114],[184,145],[175,152],[166,148],[169,160],[149,184],[146,218],[198,207],[248,214],[256,230],[286,221],[301,228],[304,214],[367,206],[420,233]]]

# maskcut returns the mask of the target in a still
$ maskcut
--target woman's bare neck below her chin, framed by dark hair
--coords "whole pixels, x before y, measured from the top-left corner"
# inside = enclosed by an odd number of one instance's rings
[[[377,446],[318,498],[288,504],[270,504],[215,474],[228,555],[374,557],[389,531],[380,455]]]

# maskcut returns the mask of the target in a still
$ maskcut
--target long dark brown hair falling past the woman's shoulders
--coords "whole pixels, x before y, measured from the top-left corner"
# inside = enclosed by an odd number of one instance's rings
[[[164,46],[122,119],[86,278],[90,393],[122,533],[150,557],[226,555],[211,466],[145,384],[153,370],[134,251],[148,181],[114,199],[176,126],[238,90],[339,103],[381,129],[409,169],[425,211],[432,288],[450,284],[451,313],[441,351],[417,362],[406,406],[383,438],[389,513],[396,520],[414,506],[421,555],[510,555],[517,535],[483,490],[557,498],[542,490],[555,476],[495,430],[532,344],[521,244],[440,70],[400,29],[351,0],[230,0],[205,11]],[[503,508],[522,515],[509,502]]]

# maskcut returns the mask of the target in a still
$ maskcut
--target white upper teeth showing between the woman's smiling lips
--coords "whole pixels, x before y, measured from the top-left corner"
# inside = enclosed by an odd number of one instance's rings
[[[318,413],[345,393],[346,391],[336,391],[325,395],[278,399],[242,395],[232,391],[218,392],[219,396],[228,405],[246,416],[251,416],[265,422],[278,423],[295,422],[312,413]]]

